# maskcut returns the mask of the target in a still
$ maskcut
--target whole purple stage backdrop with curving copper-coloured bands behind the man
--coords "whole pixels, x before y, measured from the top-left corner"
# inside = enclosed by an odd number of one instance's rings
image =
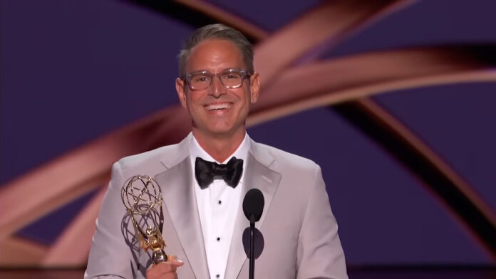
[[[348,265],[495,265],[496,2],[2,0],[0,266],[84,266],[120,157],[190,129],[205,23],[244,31],[249,135],[324,172]]]

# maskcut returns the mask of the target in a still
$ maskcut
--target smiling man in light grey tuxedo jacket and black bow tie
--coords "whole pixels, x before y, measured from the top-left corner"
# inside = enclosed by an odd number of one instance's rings
[[[232,28],[215,24],[193,33],[175,83],[192,133],[114,164],[86,278],[247,278],[242,199],[252,188],[265,200],[256,278],[347,278],[319,166],[247,135],[245,120],[260,86],[252,60],[252,46]],[[204,179],[205,169],[222,169],[224,176]],[[129,241],[120,189],[136,174],[160,184],[165,250],[180,260],[150,265],[150,253]]]

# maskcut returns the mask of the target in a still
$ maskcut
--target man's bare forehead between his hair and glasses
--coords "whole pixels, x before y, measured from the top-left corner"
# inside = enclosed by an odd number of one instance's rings
[[[218,73],[227,68],[245,68],[241,51],[231,41],[212,39],[197,44],[190,53],[186,71],[210,70]]]

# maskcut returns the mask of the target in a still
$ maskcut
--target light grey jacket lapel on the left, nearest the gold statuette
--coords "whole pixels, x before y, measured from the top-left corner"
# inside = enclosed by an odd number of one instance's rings
[[[196,278],[208,278],[208,265],[203,243],[200,215],[193,189],[189,157],[189,137],[180,142],[177,153],[162,160],[167,167],[155,180],[162,187],[164,206],[169,212],[177,236]]]

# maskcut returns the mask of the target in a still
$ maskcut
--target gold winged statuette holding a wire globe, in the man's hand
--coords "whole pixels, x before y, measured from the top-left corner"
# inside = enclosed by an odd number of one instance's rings
[[[162,191],[157,181],[147,175],[135,175],[125,181],[120,194],[125,209],[133,222],[140,247],[145,251],[148,251],[149,248],[152,249],[155,265],[167,261],[167,255],[164,251],[165,241],[161,233],[164,225]],[[145,231],[140,228],[135,215],[141,216],[147,223]],[[150,222],[151,225],[148,224]]]

